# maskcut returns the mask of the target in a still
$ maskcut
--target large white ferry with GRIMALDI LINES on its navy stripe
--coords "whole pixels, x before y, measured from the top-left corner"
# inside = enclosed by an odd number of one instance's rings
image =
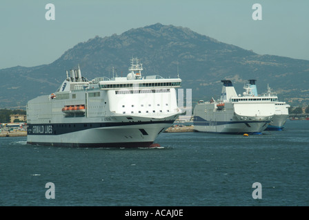
[[[132,58],[126,77],[66,72],[54,94],[28,101],[28,144],[76,147],[148,147],[181,114],[180,78],[141,75]]]

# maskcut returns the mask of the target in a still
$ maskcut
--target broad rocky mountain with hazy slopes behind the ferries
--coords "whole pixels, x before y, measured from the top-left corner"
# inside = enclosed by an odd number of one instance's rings
[[[183,80],[192,89],[192,100],[219,98],[221,80],[230,79],[243,92],[248,79],[257,79],[259,94],[267,84],[280,100],[309,102],[309,61],[282,56],[259,55],[241,47],[219,42],[188,28],[156,23],[123,34],[95,36],[78,43],[48,65],[0,69],[0,108],[25,107],[28,100],[56,91],[66,70],[81,68],[88,79],[126,76],[130,58],[143,63],[143,75],[157,74]]]

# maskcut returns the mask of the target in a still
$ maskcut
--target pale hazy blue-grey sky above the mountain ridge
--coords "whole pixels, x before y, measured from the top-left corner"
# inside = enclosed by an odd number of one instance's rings
[[[46,20],[46,4],[55,20]],[[259,3],[262,20],[253,20]],[[1,0],[0,69],[48,64],[98,35],[175,25],[253,50],[309,60],[308,0]]]

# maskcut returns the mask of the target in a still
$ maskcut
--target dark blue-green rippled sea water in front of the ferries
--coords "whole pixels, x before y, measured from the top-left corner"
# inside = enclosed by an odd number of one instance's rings
[[[161,133],[155,142],[60,148],[2,137],[0,206],[309,205],[309,121],[248,137]]]

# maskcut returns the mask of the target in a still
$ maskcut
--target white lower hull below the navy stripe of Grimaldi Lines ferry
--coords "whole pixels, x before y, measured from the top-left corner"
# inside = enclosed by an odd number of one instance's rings
[[[133,124],[133,123],[132,123]],[[62,132],[59,135],[45,133],[28,135],[28,144],[42,146],[67,146],[88,148],[146,148],[172,121],[126,126],[106,126],[81,131]]]

